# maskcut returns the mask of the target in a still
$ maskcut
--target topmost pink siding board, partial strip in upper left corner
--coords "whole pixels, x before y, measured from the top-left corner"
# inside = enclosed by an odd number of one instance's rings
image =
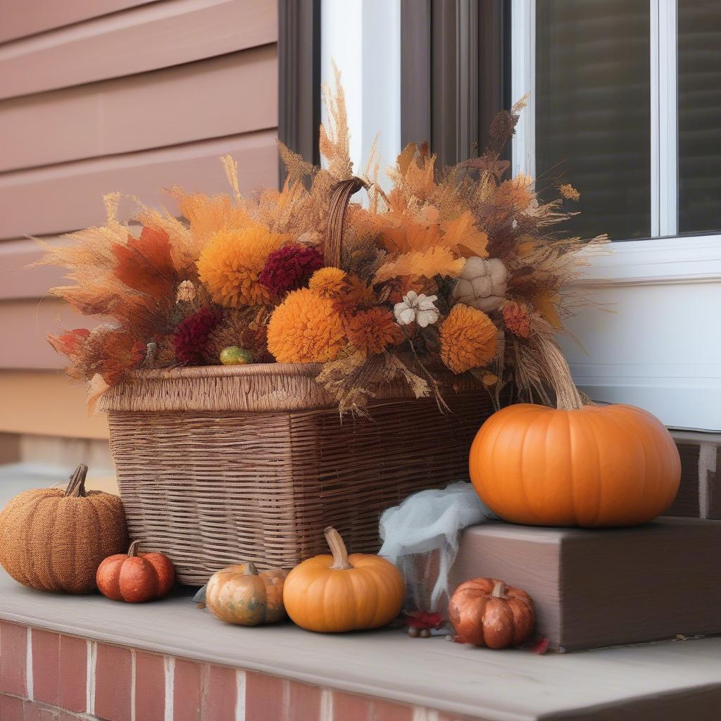
[[[0,43],[144,5],[149,1],[151,0],[32,0],[32,12],[28,12],[27,3],[0,0]]]

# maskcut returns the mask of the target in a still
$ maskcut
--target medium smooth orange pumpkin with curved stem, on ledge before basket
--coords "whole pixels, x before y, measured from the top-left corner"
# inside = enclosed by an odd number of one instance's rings
[[[380,556],[349,556],[335,528],[326,528],[325,537],[332,556],[309,558],[286,578],[288,616],[301,628],[324,633],[375,629],[391,622],[405,595],[401,572]]]

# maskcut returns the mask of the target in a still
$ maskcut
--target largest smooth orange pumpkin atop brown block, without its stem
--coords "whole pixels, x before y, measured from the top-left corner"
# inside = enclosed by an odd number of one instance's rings
[[[482,501],[512,523],[635,526],[671,504],[681,461],[640,408],[516,404],[482,425],[469,471]]]

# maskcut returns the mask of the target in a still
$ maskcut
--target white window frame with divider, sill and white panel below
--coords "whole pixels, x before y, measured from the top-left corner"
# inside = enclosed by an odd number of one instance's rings
[[[588,266],[571,286],[590,291],[614,312],[599,319],[593,311],[583,311],[570,324],[580,340],[585,336],[601,346],[595,357],[567,338],[564,347],[575,379],[591,397],[646,407],[671,427],[718,431],[721,340],[706,324],[715,318],[721,297],[721,234],[676,236],[677,3],[649,1],[652,237],[585,251]],[[530,96],[513,138],[513,172],[531,177],[536,176],[535,19],[536,0],[512,0],[513,99]],[[666,288],[654,291],[650,286]],[[637,335],[631,340],[627,335],[625,341],[624,313],[627,319],[633,317],[637,329]],[[668,317],[674,317],[678,327],[669,328]],[[679,317],[686,320],[679,323]],[[701,340],[684,354],[690,337]],[[671,352],[664,354],[663,348]]]

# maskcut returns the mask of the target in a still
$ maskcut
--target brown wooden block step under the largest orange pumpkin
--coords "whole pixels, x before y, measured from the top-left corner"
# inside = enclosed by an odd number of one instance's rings
[[[536,602],[555,650],[721,633],[721,521],[659,518],[637,528],[466,528],[451,589],[487,576]]]

